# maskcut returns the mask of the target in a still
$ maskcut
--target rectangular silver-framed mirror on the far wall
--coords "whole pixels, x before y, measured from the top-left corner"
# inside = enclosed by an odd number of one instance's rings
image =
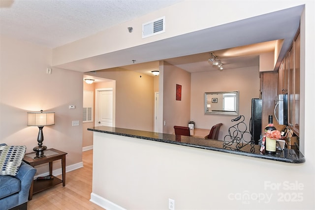
[[[205,92],[205,114],[238,115],[239,92]]]

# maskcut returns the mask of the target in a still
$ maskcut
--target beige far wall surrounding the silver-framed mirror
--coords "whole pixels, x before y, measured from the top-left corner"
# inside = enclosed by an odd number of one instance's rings
[[[190,118],[195,121],[196,128],[211,129],[213,125],[223,123],[219,132],[219,140],[223,140],[228,128],[235,124],[231,120],[237,116],[204,114],[204,93],[218,91],[239,91],[239,114],[244,115],[249,129],[252,98],[260,97],[259,67],[191,74]]]

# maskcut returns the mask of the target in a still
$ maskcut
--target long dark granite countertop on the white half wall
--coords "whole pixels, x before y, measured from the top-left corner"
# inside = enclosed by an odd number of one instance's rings
[[[204,150],[215,150],[226,153],[245,155],[250,157],[269,159],[287,163],[304,163],[305,158],[304,155],[299,150],[289,150],[284,149],[282,151],[277,150],[277,153],[274,155],[269,154],[260,154],[258,145],[246,145],[240,150],[234,149],[223,149],[223,141],[211,140],[211,139],[201,139],[195,138],[192,136],[176,136],[173,134],[165,134],[165,133],[156,133],[150,131],[142,131],[142,130],[132,130],[126,128],[118,128],[118,127],[108,127],[108,126],[97,126],[88,128],[90,131],[101,132],[101,133],[109,133],[120,136],[128,136],[137,139],[144,139],[150,141],[164,142],[168,144],[177,144],[187,147],[200,148]],[[233,148],[233,147],[230,147]]]

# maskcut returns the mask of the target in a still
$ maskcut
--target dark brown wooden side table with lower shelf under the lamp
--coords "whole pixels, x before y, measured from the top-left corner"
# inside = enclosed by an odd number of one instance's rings
[[[57,177],[54,177],[54,179],[51,179],[51,180],[33,180],[31,188],[30,188],[29,200],[32,200],[33,194],[37,192],[41,192],[52,186],[55,186],[56,184],[63,183],[63,186],[65,186],[65,155],[66,154],[67,154],[66,152],[63,152],[60,150],[47,149],[44,151],[44,155],[46,155],[45,157],[39,157],[39,158],[34,159],[34,157],[36,156],[36,152],[30,152],[24,155],[24,158],[23,158],[24,162],[26,162],[27,164],[33,167],[44,164],[44,163],[49,163],[50,176],[53,176],[52,175],[53,161],[61,159],[61,163],[62,163],[63,179],[61,180],[61,179],[58,179]]]

